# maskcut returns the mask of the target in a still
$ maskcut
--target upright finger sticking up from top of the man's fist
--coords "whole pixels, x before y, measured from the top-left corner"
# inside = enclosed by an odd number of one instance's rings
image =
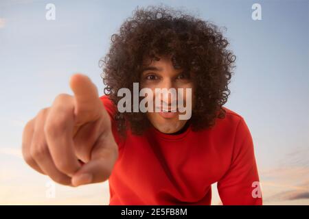
[[[91,79],[75,74],[70,79],[70,87],[74,93],[76,123],[82,125],[100,118],[103,105]]]

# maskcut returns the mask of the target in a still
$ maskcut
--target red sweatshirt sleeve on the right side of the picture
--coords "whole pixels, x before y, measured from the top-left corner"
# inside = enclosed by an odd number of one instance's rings
[[[236,130],[231,165],[217,188],[223,205],[262,205],[253,140],[243,118]]]

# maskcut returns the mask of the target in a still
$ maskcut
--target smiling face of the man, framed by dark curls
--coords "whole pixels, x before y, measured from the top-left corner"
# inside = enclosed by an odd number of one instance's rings
[[[170,57],[160,57],[160,60],[153,60],[148,66],[144,67],[141,73],[141,88],[150,88],[152,90],[153,101],[155,103],[155,96],[161,95],[156,94],[156,88],[183,88],[183,96],[177,95],[177,101],[179,98],[183,98],[183,104],[186,105],[187,101],[192,101],[192,107],[194,105],[194,88],[192,82],[192,75],[190,73],[184,72],[183,69],[176,69],[172,64]],[[192,89],[192,95],[190,95],[190,100],[187,99],[186,88]],[[168,102],[161,96],[161,105],[165,105],[165,109],[171,109],[173,104],[172,98],[169,95]],[[179,119],[179,114],[184,114],[179,112],[147,112],[147,118],[150,123],[162,133],[175,133],[181,130],[187,120]]]

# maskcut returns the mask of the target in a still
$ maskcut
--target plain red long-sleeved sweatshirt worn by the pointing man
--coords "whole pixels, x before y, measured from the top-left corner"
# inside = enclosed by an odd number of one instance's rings
[[[216,183],[223,205],[262,205],[256,197],[258,170],[253,140],[242,116],[227,111],[211,129],[179,135],[150,128],[143,136],[115,131],[116,107],[101,100],[111,116],[119,158],[109,178],[110,205],[210,205]],[[255,182],[255,183],[254,183]]]

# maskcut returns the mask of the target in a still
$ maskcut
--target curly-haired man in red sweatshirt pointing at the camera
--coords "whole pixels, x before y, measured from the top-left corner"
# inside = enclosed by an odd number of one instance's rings
[[[222,107],[235,56],[216,25],[168,8],[137,9],[111,40],[106,95],[73,75],[74,96],[60,94],[27,123],[27,164],[63,185],[108,179],[111,205],[210,205],[216,182],[223,205],[261,205],[250,131]],[[176,101],[191,104],[192,116],[180,119],[172,96],[159,112],[128,103],[120,112],[119,90],[134,93],[134,83],[154,94],[148,100],[161,98],[158,88],[184,89]]]

